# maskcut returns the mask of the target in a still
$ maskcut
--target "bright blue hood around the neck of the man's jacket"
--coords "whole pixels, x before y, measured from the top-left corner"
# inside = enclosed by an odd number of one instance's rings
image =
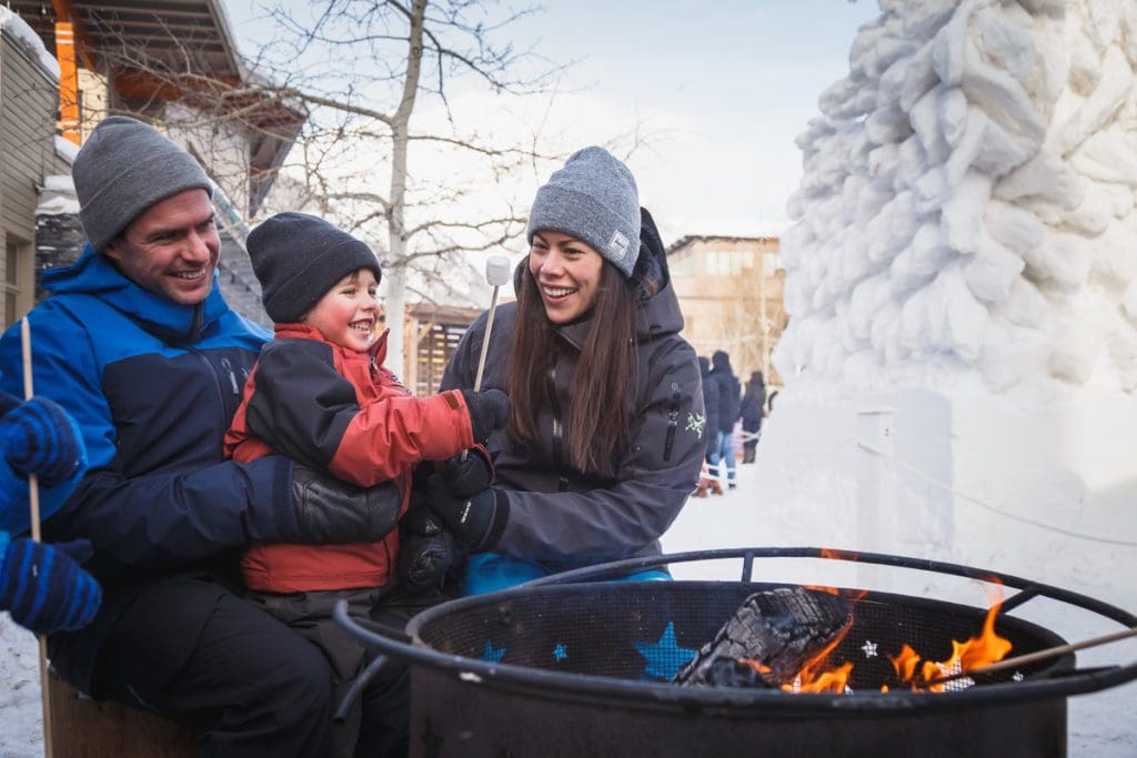
[[[193,342],[229,310],[217,284],[217,270],[214,270],[209,295],[196,306],[183,306],[148,292],[123,276],[90,243],[74,265],[44,272],[43,289],[51,294],[97,294],[169,344]]]

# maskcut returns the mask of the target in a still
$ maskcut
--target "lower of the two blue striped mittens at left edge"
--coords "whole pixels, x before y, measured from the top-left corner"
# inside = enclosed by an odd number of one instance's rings
[[[7,534],[0,532],[0,538]],[[0,559],[0,609],[36,634],[86,626],[102,600],[99,583],[80,568],[90,557],[86,540],[61,544],[13,540]]]

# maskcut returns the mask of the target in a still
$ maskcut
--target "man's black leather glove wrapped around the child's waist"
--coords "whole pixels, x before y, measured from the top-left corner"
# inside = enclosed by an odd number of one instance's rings
[[[395,482],[362,488],[292,464],[292,513],[298,534],[285,542],[376,542],[399,523],[402,497]]]

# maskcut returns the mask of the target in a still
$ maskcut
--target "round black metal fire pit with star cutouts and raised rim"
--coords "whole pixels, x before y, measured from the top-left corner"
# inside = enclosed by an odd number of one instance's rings
[[[1077,669],[1072,653],[952,682],[944,692],[901,684],[904,644],[947,659],[974,636],[986,608],[840,589],[854,601],[830,653],[850,661],[841,693],[688,688],[671,677],[752,593],[755,559],[822,558],[997,582],[1018,592],[995,617],[1012,655],[1065,641],[1011,615],[1048,598],[1126,626],[1137,617],[1072,592],[997,572],[815,548],[715,550],[567,572],[464,598],[417,616],[410,643],[338,618],[365,643],[412,665],[415,756],[1064,756],[1071,694],[1137,677],[1137,664]],[[741,559],[738,582],[597,582],[648,566]],[[785,585],[781,585],[785,586]],[[881,688],[888,686],[887,692]]]

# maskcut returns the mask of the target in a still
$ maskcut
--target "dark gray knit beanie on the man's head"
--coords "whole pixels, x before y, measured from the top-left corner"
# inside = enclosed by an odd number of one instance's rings
[[[78,220],[97,251],[150,206],[213,184],[197,159],[161,132],[127,116],[105,118],[72,165]]]

